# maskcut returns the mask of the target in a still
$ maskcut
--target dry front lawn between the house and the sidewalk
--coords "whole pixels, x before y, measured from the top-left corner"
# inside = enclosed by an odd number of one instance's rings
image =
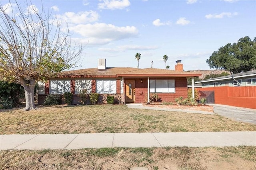
[[[220,115],[117,105],[50,106],[0,112],[0,134],[256,131]]]

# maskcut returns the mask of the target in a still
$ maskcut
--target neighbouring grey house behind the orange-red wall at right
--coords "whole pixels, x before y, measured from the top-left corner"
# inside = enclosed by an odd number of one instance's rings
[[[202,88],[218,86],[256,86],[256,70],[200,80],[195,83],[202,84]]]

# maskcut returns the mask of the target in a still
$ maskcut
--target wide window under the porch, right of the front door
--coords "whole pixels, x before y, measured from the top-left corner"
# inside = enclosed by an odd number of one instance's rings
[[[175,93],[174,80],[150,80],[150,93]]]

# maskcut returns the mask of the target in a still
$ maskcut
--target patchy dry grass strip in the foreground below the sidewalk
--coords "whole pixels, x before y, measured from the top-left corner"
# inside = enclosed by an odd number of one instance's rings
[[[0,169],[254,169],[256,147],[104,148],[0,151]],[[228,155],[228,156],[225,156]]]

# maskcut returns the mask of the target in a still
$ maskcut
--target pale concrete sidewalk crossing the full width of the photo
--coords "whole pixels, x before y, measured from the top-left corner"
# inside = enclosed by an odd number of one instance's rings
[[[256,131],[0,135],[0,150],[256,146]]]

